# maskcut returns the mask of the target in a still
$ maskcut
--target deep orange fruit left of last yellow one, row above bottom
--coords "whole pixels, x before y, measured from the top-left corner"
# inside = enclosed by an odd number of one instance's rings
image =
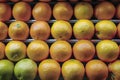
[[[73,54],[75,59],[87,62],[94,57],[95,46],[89,40],[79,40],[73,46]]]

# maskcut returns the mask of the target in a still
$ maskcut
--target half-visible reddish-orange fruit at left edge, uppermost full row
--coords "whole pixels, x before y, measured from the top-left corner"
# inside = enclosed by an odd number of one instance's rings
[[[11,7],[7,3],[0,3],[0,21],[8,21],[11,18]]]

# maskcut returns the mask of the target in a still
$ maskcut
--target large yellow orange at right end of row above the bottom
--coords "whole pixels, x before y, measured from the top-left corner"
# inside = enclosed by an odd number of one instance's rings
[[[97,43],[96,52],[99,59],[112,62],[119,56],[119,46],[112,40],[102,40]]]

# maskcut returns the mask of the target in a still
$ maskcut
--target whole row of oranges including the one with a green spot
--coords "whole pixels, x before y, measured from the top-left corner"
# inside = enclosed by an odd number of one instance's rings
[[[120,38],[120,24],[116,24],[110,20],[101,20],[95,25],[90,20],[78,20],[72,25],[68,21],[55,21],[51,28],[45,21],[35,21],[31,27],[23,21],[12,22],[9,27],[0,22],[0,40],[5,40],[7,34],[13,40],[26,40],[29,36],[36,40],[47,40],[50,34],[58,40],[69,40],[72,32],[76,39],[92,39],[94,35],[98,39]]]

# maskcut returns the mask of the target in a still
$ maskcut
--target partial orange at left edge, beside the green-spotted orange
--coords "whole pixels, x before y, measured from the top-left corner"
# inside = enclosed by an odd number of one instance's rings
[[[6,39],[7,34],[8,34],[8,26],[5,23],[0,22],[0,40]]]

